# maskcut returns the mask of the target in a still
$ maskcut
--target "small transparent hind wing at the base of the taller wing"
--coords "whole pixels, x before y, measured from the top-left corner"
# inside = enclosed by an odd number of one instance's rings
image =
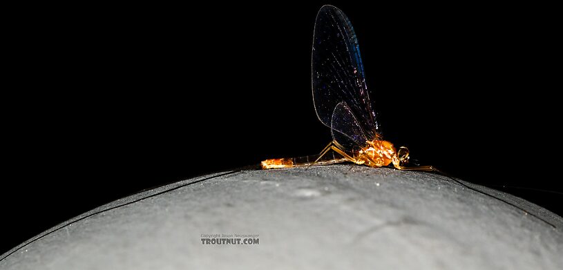
[[[358,119],[345,102],[338,103],[334,108],[330,126],[332,127],[332,139],[344,146],[345,150],[365,146],[367,138]]]

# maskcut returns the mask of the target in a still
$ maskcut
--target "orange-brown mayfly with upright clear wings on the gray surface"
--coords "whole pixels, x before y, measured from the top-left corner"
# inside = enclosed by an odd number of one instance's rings
[[[312,91],[316,115],[332,132],[332,142],[318,155],[264,160],[262,168],[316,166],[354,162],[370,167],[434,171],[409,166],[408,148],[383,140],[365,84],[358,40],[352,23],[334,6],[323,6],[315,21]]]

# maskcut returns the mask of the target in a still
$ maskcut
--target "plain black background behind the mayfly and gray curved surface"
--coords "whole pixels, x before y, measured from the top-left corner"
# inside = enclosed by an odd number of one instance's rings
[[[336,5],[385,139],[561,215],[549,8],[356,2]],[[310,61],[323,3],[30,8],[41,16],[14,23],[3,100],[0,253],[142,189],[321,151]]]

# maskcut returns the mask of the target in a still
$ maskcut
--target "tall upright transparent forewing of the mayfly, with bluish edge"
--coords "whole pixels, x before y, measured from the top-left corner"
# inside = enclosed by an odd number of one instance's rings
[[[379,134],[356,34],[350,20],[334,6],[323,6],[316,17],[312,89],[316,115],[325,126],[332,128],[334,108],[345,102],[368,139]],[[340,132],[356,136],[350,134],[355,131]]]

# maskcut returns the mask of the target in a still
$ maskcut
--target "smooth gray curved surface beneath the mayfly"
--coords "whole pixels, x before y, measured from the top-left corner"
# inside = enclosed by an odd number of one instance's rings
[[[465,182],[464,182],[465,183]],[[448,177],[354,165],[218,173],[84,213],[0,269],[563,269],[563,219]],[[202,244],[211,233],[259,244]]]

